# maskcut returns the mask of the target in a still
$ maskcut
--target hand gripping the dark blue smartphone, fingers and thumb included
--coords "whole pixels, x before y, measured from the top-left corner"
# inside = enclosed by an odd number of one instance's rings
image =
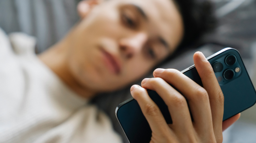
[[[175,69],[156,69],[153,73],[155,78],[143,79],[142,87],[131,87],[131,94],[138,101],[152,130],[151,143],[221,143],[222,131],[240,117],[237,114],[222,122],[224,96],[213,68],[201,52],[194,54],[194,63],[204,88]],[[188,103],[169,83],[186,97]],[[172,124],[166,123],[146,89],[156,91],[164,100]]]

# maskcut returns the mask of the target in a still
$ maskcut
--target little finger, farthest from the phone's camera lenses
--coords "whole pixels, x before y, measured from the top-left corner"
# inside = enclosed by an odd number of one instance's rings
[[[171,129],[167,125],[163,114],[155,102],[148,96],[147,90],[138,85],[133,85],[130,91],[132,97],[138,102],[152,132],[162,133],[163,135],[171,133]]]

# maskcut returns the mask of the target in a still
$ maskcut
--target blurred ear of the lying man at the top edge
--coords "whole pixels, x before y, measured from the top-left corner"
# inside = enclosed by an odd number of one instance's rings
[[[102,0],[82,0],[77,5],[77,12],[81,19],[85,18],[92,8],[100,4]]]

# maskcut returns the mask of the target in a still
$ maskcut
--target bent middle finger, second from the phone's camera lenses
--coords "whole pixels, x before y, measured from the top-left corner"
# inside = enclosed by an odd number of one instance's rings
[[[187,98],[194,126],[200,135],[205,136],[209,129],[213,129],[209,97],[203,87],[175,69],[156,69],[153,75],[176,87]]]

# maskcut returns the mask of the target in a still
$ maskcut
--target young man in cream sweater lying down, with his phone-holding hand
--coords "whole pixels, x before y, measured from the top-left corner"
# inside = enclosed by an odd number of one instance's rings
[[[97,93],[130,84],[170,56],[181,41],[189,41],[189,35],[198,36],[196,33],[200,32],[193,30],[196,27],[188,28],[192,21],[184,14],[181,3],[177,3],[81,1],[78,5],[81,21],[39,58],[33,54],[15,55],[2,33],[0,142],[121,142],[105,114],[87,101]],[[178,109],[177,117],[181,114],[186,120],[177,118],[169,126],[158,122],[163,119],[145,89],[131,88],[153,130],[152,142],[222,141],[223,100],[219,99],[223,95],[209,62],[201,53],[196,53],[194,60],[198,72],[206,73],[200,74],[202,80],[211,79],[214,86],[203,89],[179,72],[161,72],[163,69],[154,72],[160,78],[142,81],[145,88],[163,91],[160,95],[167,105],[176,105],[169,109]],[[189,102],[195,104],[195,110],[202,113],[195,120],[201,126],[192,126],[184,98],[165,81],[188,85],[184,92],[191,98]],[[166,91],[175,95],[164,94]],[[224,122],[223,129],[238,116]],[[176,132],[180,126],[181,130]],[[181,140],[182,136],[188,136],[187,140]]]

